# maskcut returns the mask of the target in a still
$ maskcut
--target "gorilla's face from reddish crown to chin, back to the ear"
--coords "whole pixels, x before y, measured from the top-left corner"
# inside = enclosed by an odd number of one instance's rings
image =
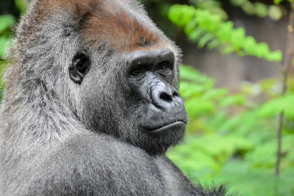
[[[179,50],[137,4],[101,2],[82,16],[82,49],[69,66],[76,114],[93,131],[163,153],[183,139],[187,123]]]

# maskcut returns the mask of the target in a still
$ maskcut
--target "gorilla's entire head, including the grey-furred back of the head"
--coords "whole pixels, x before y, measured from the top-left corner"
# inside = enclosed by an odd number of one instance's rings
[[[39,2],[30,12],[38,17],[22,24],[27,32],[20,34],[32,46],[36,38],[43,56],[34,50],[31,57],[47,62],[34,73],[40,80],[43,74],[47,90],[52,87],[80,122],[150,154],[182,140],[187,114],[177,90],[180,50],[142,6],[135,0]],[[40,40],[46,41],[40,46]]]

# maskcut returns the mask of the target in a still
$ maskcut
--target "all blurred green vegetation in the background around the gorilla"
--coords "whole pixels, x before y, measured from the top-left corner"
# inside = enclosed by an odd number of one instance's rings
[[[1,73],[7,64],[4,48],[11,39],[11,29],[28,4],[26,0],[15,0],[11,8],[8,1],[4,0],[3,6],[9,4],[10,11],[0,12]],[[232,92],[227,87],[216,88],[218,81],[193,67],[182,66],[180,92],[190,123],[186,145],[170,150],[169,157],[195,183],[227,182],[244,196],[294,196],[292,1],[229,1],[252,17],[275,21],[283,15],[289,17],[284,54],[246,36],[244,28],[235,28],[220,0],[142,1],[171,38],[182,31],[199,49],[263,58],[275,62],[281,72],[281,78],[246,82]],[[3,85],[0,83],[0,97]]]

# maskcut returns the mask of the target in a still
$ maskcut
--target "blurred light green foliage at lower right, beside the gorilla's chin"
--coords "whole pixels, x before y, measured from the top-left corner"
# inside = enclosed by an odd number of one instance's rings
[[[180,93],[190,122],[186,144],[169,157],[192,179],[228,182],[244,196],[294,196],[294,91],[277,79],[246,83],[231,94],[192,67],[181,67]],[[293,81],[289,86],[294,87]],[[264,95],[265,101],[256,99]],[[277,116],[285,112],[282,174],[275,178]],[[195,182],[197,179],[195,178]],[[278,191],[276,190],[278,189]]]

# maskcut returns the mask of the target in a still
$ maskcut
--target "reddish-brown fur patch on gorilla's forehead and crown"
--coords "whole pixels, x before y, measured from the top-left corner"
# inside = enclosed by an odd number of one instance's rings
[[[106,42],[108,47],[121,52],[168,47],[164,35],[152,28],[146,15],[139,16],[134,12],[133,9],[140,10],[141,7],[126,9],[127,6],[115,0],[99,1],[80,20],[84,40]]]

